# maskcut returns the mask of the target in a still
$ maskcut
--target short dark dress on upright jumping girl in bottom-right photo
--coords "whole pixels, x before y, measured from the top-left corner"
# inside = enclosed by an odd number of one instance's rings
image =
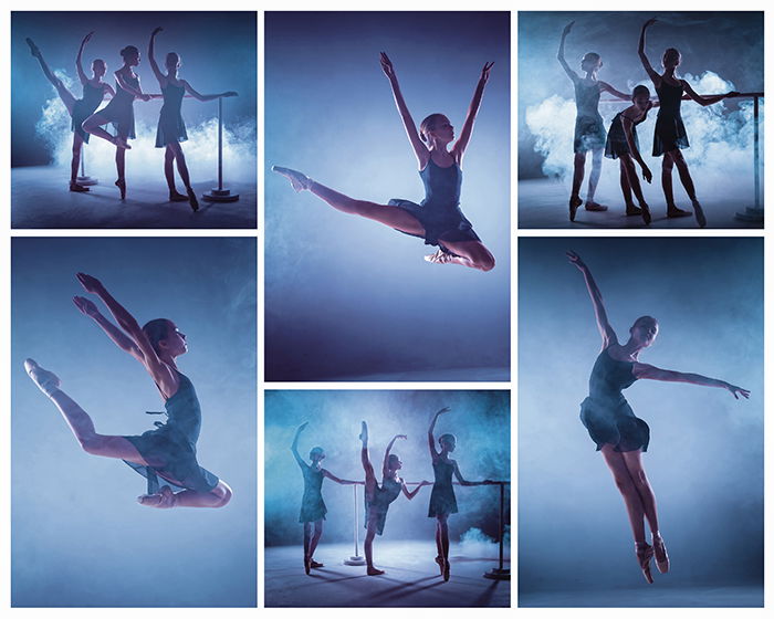
[[[588,397],[580,403],[580,421],[599,451],[614,445],[614,451],[648,451],[650,428],[635,416],[621,391],[637,378],[631,361],[610,357],[605,348],[597,357],[588,379]]]

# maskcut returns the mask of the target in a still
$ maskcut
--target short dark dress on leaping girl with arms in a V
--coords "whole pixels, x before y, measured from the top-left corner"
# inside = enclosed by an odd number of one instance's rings
[[[430,158],[425,169],[419,171],[419,176],[425,185],[425,199],[419,204],[397,198],[388,202],[390,207],[409,212],[422,224],[425,235],[411,235],[425,239],[426,245],[438,245],[447,253],[452,252],[443,245],[443,241],[480,241],[479,235],[473,232],[472,223],[460,209],[460,166],[454,162],[442,168]]]

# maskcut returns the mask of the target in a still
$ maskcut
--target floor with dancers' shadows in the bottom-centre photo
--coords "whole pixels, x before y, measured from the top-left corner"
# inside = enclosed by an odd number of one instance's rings
[[[386,574],[366,576],[365,566],[343,562],[352,544],[324,544],[315,560],[324,568],[306,576],[301,546],[265,549],[266,607],[509,607],[511,581],[490,580],[485,571],[498,567],[496,546],[487,552],[451,548],[451,578],[444,583],[433,562],[432,542],[374,543],[375,563]],[[360,548],[360,553],[363,549]],[[482,557],[488,558],[482,558]],[[510,567],[510,564],[505,564]]]

